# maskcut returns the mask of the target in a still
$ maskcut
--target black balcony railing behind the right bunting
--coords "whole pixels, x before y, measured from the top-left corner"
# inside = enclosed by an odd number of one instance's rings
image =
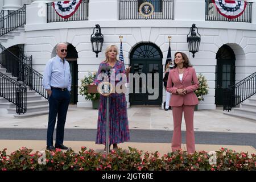
[[[212,0],[205,0],[205,20],[208,21],[226,21],[226,22],[247,22],[251,23],[251,6],[252,2],[246,3],[245,11],[241,16],[234,19],[228,19],[218,13],[218,10],[214,6]]]

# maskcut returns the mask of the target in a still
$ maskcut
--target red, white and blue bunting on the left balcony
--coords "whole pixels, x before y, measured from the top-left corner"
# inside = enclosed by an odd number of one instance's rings
[[[62,18],[69,18],[78,9],[82,0],[73,0],[73,1],[55,1],[53,2],[53,7],[56,13]]]

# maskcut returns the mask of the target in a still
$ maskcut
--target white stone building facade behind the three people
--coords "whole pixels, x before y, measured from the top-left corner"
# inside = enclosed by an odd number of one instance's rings
[[[119,35],[123,36],[126,66],[130,64],[131,50],[142,42],[155,43],[161,49],[164,65],[168,51],[168,36],[172,36],[172,59],[176,51],[187,53],[196,72],[207,77],[210,90],[205,100],[200,103],[199,109],[216,108],[216,53],[222,45],[228,44],[236,55],[236,82],[256,71],[256,18],[253,18],[253,23],[205,21],[205,1],[176,0],[174,20],[118,20],[118,5],[117,0],[93,0],[89,3],[89,20],[56,23],[46,23],[46,14],[43,13],[46,7],[38,7],[36,3],[28,5],[24,43],[26,54],[33,55],[34,68],[43,73],[56,44],[68,42],[78,52],[79,80],[89,71],[97,71],[98,64],[104,59],[104,52],[99,53],[96,58],[96,54],[92,52],[90,34],[95,24],[100,24],[104,34],[103,50],[109,44],[116,44],[119,47]],[[111,13],[106,13],[106,10]],[[253,5],[253,15],[255,12],[256,6]],[[201,34],[200,50],[195,54],[195,58],[192,58],[187,46],[187,34],[192,23],[196,23]],[[128,95],[126,99],[129,101]],[[85,101],[82,96],[79,96],[78,101],[78,106],[91,107],[91,103]]]

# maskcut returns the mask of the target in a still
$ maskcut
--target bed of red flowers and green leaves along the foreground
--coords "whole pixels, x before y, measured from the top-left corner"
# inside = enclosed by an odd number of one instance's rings
[[[43,152],[43,154],[41,153]],[[2,171],[226,171],[256,170],[256,155],[221,148],[214,155],[205,151],[188,154],[186,151],[170,152],[162,157],[158,151],[149,154],[129,147],[129,151],[112,150],[109,155],[86,150],[81,147],[79,153],[72,150],[63,152],[36,151],[25,147],[6,155],[6,148],[0,151],[0,169]]]

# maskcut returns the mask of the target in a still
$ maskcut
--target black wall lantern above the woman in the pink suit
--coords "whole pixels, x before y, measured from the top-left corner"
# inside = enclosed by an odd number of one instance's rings
[[[196,35],[195,28],[199,36]],[[191,35],[188,36],[189,34]],[[192,24],[192,27],[190,28],[188,35],[187,35],[188,51],[193,54],[193,57],[195,57],[195,53],[198,52],[199,45],[201,42],[201,35],[198,32],[196,24]]]

